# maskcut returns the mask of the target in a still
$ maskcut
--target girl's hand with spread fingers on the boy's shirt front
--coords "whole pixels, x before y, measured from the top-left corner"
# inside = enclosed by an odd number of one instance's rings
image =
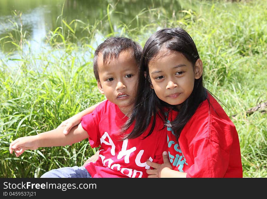
[[[169,161],[167,151],[164,151],[163,154],[163,164],[158,164],[147,160],[147,165],[153,167],[154,169],[147,169],[148,177],[161,177],[161,171],[164,169],[172,169],[171,163]]]

